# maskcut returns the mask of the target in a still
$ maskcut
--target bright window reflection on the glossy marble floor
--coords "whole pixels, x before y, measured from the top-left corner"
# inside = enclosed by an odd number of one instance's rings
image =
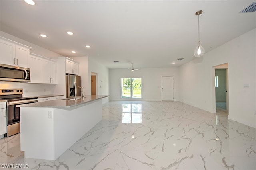
[[[122,123],[142,123],[142,104],[122,104]]]

